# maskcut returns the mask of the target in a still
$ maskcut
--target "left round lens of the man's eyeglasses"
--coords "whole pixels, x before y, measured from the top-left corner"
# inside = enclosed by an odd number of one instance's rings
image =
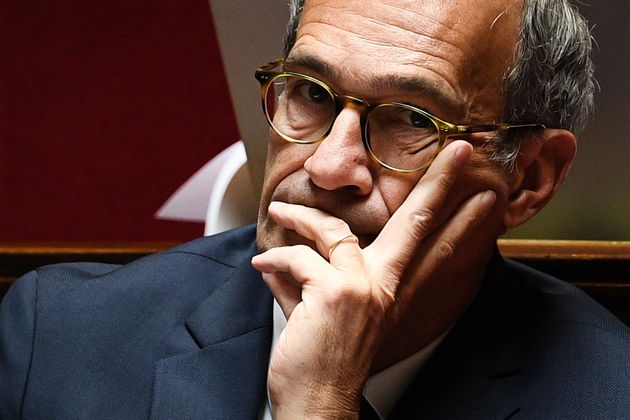
[[[271,126],[298,143],[322,138],[335,120],[335,100],[324,85],[300,76],[278,76],[265,97]]]

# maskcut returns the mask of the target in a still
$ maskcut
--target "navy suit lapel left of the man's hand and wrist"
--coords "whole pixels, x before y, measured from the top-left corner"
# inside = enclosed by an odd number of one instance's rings
[[[256,418],[266,389],[272,297],[249,258],[186,327],[200,348],[157,363],[151,417]]]

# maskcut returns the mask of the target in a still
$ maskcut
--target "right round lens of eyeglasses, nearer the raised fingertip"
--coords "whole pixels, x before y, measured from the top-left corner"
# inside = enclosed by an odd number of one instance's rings
[[[365,134],[374,157],[394,169],[424,169],[439,152],[437,126],[424,114],[403,105],[374,108],[368,115]]]

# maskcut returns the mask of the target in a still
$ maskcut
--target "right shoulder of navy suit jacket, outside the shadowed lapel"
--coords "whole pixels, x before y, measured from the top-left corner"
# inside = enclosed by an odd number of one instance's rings
[[[627,418],[630,329],[577,287],[513,261],[524,286],[518,337],[531,418]],[[525,402],[526,401],[526,402]]]

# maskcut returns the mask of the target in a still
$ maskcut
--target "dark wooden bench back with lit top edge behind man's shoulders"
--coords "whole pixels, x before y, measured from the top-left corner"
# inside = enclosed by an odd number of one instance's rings
[[[176,243],[0,243],[0,296],[39,266],[72,261],[124,264]],[[575,284],[630,325],[630,242],[501,240],[501,253]]]

